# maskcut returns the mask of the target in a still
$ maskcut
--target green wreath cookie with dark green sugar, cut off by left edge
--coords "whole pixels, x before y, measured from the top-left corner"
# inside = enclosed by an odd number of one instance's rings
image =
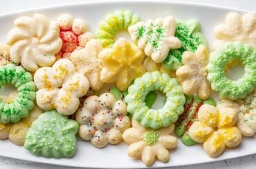
[[[18,93],[14,101],[0,100],[0,122],[16,123],[21,118],[28,117],[29,111],[33,109],[37,89],[33,76],[12,63],[0,66],[0,88],[6,85],[15,86]]]

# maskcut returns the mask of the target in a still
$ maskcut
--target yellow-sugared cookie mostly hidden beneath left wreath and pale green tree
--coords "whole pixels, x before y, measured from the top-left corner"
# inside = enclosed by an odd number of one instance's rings
[[[28,132],[33,121],[42,113],[42,109],[35,106],[33,110],[30,111],[26,119],[22,119],[17,123],[0,123],[0,139],[7,139],[9,137],[10,141],[22,146],[24,145],[26,133]]]

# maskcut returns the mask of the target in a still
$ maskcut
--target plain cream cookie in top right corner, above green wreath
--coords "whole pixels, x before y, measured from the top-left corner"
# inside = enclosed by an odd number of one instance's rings
[[[226,17],[226,23],[214,28],[214,34],[219,39],[218,46],[224,41],[241,41],[256,48],[256,15],[230,13]]]

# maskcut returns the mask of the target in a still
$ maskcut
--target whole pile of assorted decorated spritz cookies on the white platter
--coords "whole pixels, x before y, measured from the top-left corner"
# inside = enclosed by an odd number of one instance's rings
[[[197,20],[118,10],[93,34],[69,14],[19,17],[0,45],[0,88],[15,88],[0,95],[0,139],[55,158],[73,157],[77,137],[95,148],[123,140],[129,157],[152,166],[180,137],[218,157],[256,132],[256,16],[230,13],[214,34],[209,52]],[[229,79],[238,65],[243,77]]]

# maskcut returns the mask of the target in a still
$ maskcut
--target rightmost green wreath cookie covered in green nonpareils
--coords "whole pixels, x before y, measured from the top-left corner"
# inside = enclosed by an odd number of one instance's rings
[[[228,79],[224,69],[232,60],[239,60],[244,64],[244,76],[237,81]],[[256,50],[240,42],[225,43],[210,54],[208,80],[212,90],[221,97],[232,100],[246,97],[256,85]]]

